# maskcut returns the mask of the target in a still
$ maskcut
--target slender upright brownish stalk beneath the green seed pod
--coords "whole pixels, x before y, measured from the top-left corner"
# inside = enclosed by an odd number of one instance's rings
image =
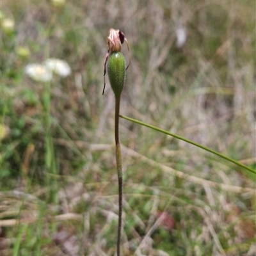
[[[122,173],[122,152],[119,141],[119,111],[120,111],[120,97],[116,97],[115,107],[115,141],[116,141],[116,170],[118,175],[118,230],[117,230],[117,256],[120,256],[120,242],[122,231],[122,205],[123,205],[123,173]]]

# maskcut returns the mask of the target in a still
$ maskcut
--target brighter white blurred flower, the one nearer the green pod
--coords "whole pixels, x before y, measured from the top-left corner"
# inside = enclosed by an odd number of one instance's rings
[[[63,60],[50,58],[44,61],[44,65],[52,70],[52,72],[62,77],[66,77],[71,73],[71,68],[68,63]]]

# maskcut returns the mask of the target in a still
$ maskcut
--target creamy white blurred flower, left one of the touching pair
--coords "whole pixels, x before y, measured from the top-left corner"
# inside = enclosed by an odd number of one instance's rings
[[[37,82],[48,82],[52,79],[52,72],[41,64],[28,64],[24,68],[25,73]]]

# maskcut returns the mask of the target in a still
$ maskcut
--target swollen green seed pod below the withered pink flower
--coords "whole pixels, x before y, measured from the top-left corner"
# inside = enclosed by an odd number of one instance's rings
[[[125,58],[121,52],[111,52],[108,58],[108,76],[115,96],[120,97],[125,82]]]

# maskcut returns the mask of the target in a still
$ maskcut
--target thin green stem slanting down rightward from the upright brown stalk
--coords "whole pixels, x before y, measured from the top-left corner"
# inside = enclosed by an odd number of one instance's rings
[[[242,164],[242,163],[239,163],[238,161],[236,161],[236,160],[234,160],[234,159],[232,159],[232,158],[230,158],[230,157],[228,157],[228,156],[225,156],[225,155],[223,155],[223,154],[221,154],[221,153],[219,153],[219,152],[216,152],[215,150],[212,150],[211,148],[207,148],[207,147],[205,147],[205,146],[203,146],[203,145],[200,145],[199,143],[196,143],[195,141],[188,140],[188,139],[186,139],[186,138],[184,138],[184,137],[182,137],[182,136],[179,136],[179,135],[177,135],[177,134],[173,134],[172,132],[165,131],[165,130],[160,129],[160,128],[156,127],[156,126],[153,126],[153,125],[150,125],[150,124],[146,124],[146,123],[144,123],[144,122],[138,121],[138,120],[136,120],[136,119],[133,119],[133,118],[130,118],[130,117],[127,117],[127,116],[122,116],[122,115],[120,115],[120,117],[122,117],[122,118],[124,118],[124,119],[126,119],[126,120],[129,120],[129,121],[131,121],[131,122],[134,122],[134,123],[136,123],[136,124],[144,125],[144,126],[146,126],[146,127],[149,127],[149,128],[151,128],[151,129],[154,129],[154,130],[156,130],[156,131],[163,132],[164,134],[168,134],[168,135],[173,136],[174,138],[177,138],[177,139],[179,139],[179,140],[186,141],[186,142],[188,142],[188,143],[190,143],[190,144],[192,144],[192,145],[195,145],[196,147],[203,148],[204,150],[206,150],[206,151],[208,151],[208,152],[211,152],[212,154],[215,154],[216,156],[220,156],[220,157],[222,157],[222,158],[224,158],[224,159],[226,159],[226,160],[228,160],[228,161],[230,161],[230,162],[232,162],[232,163],[234,163],[234,164],[236,164],[236,165],[238,165],[238,166],[240,166],[240,167],[243,167],[244,169],[246,169],[246,170],[248,170],[248,171],[250,171],[250,172],[252,172],[252,173],[254,173],[254,174],[256,174],[256,170],[253,170],[253,169],[250,168],[249,166],[246,166],[246,165],[244,165],[244,164]]]

